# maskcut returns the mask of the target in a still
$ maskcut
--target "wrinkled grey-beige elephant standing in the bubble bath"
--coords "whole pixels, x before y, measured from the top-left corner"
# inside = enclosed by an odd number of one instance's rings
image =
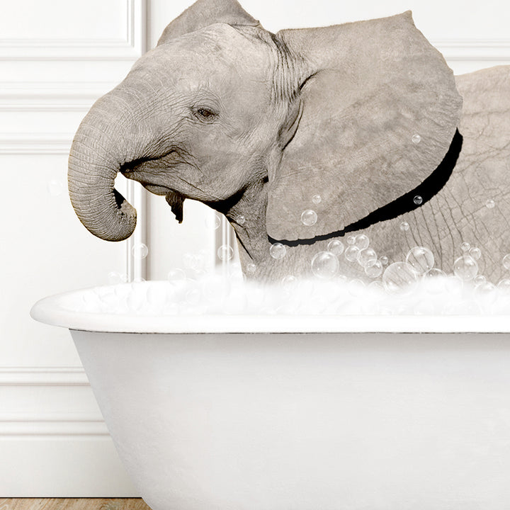
[[[469,242],[497,283],[510,252],[510,67],[454,80],[410,13],[273,35],[234,0],[198,0],[86,115],[69,193],[86,228],[112,241],[136,223],[113,190],[118,171],[176,215],[184,198],[200,200],[231,222],[246,276],[278,280],[307,274],[334,232],[424,181],[456,128],[463,148],[441,191],[363,232],[390,262],[428,246],[448,272]],[[316,225],[302,225],[305,209]],[[268,234],[293,242],[283,259],[271,258]],[[341,271],[364,276],[344,257]]]

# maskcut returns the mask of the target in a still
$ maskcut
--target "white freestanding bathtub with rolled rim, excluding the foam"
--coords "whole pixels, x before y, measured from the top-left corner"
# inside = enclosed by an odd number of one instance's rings
[[[510,507],[508,317],[132,317],[70,296],[32,315],[71,329],[154,510]]]

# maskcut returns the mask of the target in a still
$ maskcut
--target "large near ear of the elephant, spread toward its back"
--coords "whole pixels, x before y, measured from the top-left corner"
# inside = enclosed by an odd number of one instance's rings
[[[299,62],[301,117],[269,170],[270,237],[344,231],[433,173],[455,135],[462,98],[410,11],[277,37]],[[317,212],[314,225],[303,224],[305,210]]]

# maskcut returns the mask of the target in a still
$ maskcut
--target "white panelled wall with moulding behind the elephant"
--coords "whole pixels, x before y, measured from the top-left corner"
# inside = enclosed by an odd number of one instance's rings
[[[162,197],[120,183],[139,209],[135,242],[108,243],[79,224],[67,198],[72,133],[166,23],[191,0],[1,2],[0,496],[130,496],[69,333],[33,322],[48,294],[106,283],[110,271],[165,278],[186,253],[214,261],[210,213],[186,203],[177,225]],[[416,25],[455,72],[510,64],[510,4],[429,0],[244,0],[263,26],[322,26],[414,11]],[[48,191],[50,186],[50,191]],[[145,203],[147,202],[147,207]],[[145,220],[147,226],[145,226]]]

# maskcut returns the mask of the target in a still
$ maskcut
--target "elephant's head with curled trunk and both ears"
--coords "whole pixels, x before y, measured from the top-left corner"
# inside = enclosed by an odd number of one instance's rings
[[[235,0],[198,0],[86,115],[69,193],[108,240],[136,222],[114,189],[119,171],[166,196],[178,220],[185,198],[201,200],[234,224],[244,261],[263,263],[268,238],[346,231],[419,186],[461,107],[410,12],[273,34]]]

